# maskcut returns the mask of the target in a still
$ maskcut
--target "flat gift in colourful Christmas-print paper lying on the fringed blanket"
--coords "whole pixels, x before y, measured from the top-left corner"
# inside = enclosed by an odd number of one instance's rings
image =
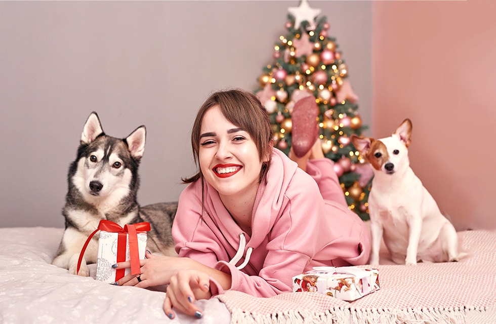
[[[353,301],[379,290],[379,270],[314,267],[293,277],[293,292],[311,292]]]

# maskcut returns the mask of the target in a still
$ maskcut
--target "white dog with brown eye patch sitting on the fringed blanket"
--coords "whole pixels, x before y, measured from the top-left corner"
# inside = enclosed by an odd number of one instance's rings
[[[405,119],[390,137],[352,142],[374,170],[368,197],[372,251],[379,264],[381,239],[395,263],[458,261],[458,236],[436,201],[410,168],[411,121]]]

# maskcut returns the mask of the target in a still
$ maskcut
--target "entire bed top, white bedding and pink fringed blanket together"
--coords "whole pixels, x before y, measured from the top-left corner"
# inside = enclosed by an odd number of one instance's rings
[[[199,301],[201,319],[162,311],[164,293],[116,287],[52,266],[62,228],[0,228],[1,323],[496,323],[496,232],[459,232],[460,262],[393,265],[381,289],[354,302],[313,293],[256,298],[228,291]],[[388,264],[389,263],[389,264]],[[369,267],[369,266],[368,266]]]

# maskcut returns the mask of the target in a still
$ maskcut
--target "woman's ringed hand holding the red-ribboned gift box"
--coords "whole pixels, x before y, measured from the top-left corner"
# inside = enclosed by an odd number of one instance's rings
[[[150,252],[145,252],[144,260],[140,260],[139,275],[128,274],[116,282],[117,286],[136,286],[147,288],[153,286],[168,285],[171,276],[179,270],[190,268],[191,259],[155,256]],[[125,269],[131,267],[131,262],[119,262],[112,266],[115,269]],[[139,280],[138,280],[139,277]]]

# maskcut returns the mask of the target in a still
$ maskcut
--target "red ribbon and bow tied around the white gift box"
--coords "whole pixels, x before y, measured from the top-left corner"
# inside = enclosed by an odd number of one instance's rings
[[[140,259],[139,259],[139,250],[138,250],[138,232],[145,232],[150,230],[150,223],[142,222],[136,224],[128,224],[124,225],[122,228],[119,224],[114,223],[112,221],[102,219],[98,224],[97,229],[90,234],[88,239],[85,242],[85,245],[81,249],[81,253],[79,254],[79,259],[77,260],[77,269],[76,273],[79,273],[79,268],[81,266],[82,257],[85,255],[86,248],[93,237],[99,230],[111,232],[111,233],[119,233],[117,237],[117,262],[126,261],[126,238],[129,234],[129,254],[131,256],[131,274],[139,274],[140,273]],[[115,280],[122,278],[124,276],[125,269],[116,270]]]

